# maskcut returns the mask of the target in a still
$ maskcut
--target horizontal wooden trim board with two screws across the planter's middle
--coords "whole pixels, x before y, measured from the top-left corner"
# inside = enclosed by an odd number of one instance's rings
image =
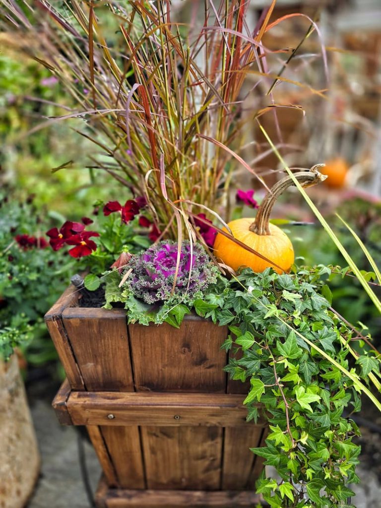
[[[239,394],[72,392],[68,410],[74,425],[254,425]]]

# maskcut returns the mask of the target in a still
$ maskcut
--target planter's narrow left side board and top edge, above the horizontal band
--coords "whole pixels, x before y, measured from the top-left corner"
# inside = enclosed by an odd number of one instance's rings
[[[68,339],[65,327],[62,324],[62,312],[67,307],[78,303],[79,293],[71,285],[45,314],[45,323],[58,353],[59,359],[65,369],[68,381],[73,390],[84,390],[83,379]]]

